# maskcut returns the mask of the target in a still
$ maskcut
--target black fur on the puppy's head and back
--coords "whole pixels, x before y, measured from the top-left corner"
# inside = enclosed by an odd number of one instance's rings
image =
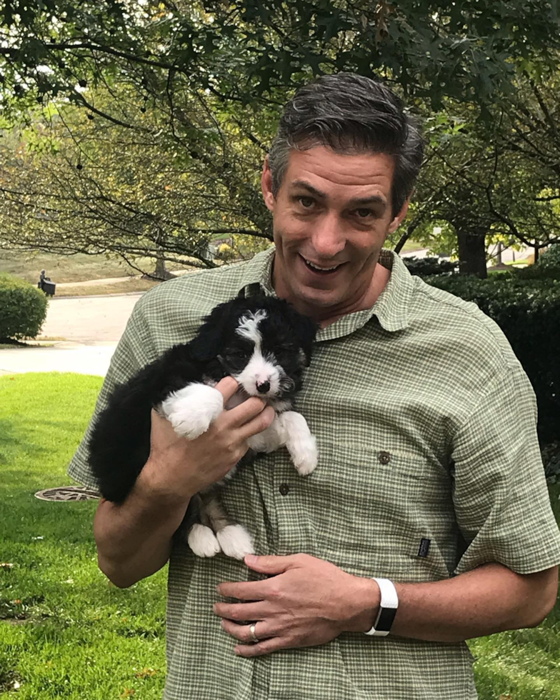
[[[290,401],[301,389],[316,334],[311,319],[274,297],[237,298],[216,306],[190,343],[172,347],[109,396],[89,440],[91,469],[105,499],[122,503],[148,461],[152,408],[186,384],[239,374],[252,344],[236,334],[236,327],[241,316],[259,309],[267,311],[259,325],[263,349],[274,354],[292,380],[274,399]]]

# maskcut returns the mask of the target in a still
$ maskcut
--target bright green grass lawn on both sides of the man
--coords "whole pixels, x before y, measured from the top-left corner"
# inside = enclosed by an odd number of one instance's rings
[[[94,502],[34,498],[66,464],[99,377],[0,377],[0,697],[160,700],[166,573],[131,589],[96,566]],[[551,498],[560,518],[560,486]],[[471,642],[481,700],[560,698],[560,606],[536,629]],[[449,700],[455,700],[450,698]]]

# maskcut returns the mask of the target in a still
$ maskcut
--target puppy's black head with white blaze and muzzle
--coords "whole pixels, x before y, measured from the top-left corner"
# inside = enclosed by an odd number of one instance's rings
[[[276,399],[301,388],[316,324],[273,297],[233,299],[216,306],[191,342],[194,359],[212,379],[231,374],[249,396]]]

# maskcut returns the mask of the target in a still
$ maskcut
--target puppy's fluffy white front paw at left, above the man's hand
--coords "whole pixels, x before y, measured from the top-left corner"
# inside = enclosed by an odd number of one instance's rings
[[[205,433],[223,410],[223,396],[206,384],[189,384],[161,403],[161,411],[176,434],[188,440]]]

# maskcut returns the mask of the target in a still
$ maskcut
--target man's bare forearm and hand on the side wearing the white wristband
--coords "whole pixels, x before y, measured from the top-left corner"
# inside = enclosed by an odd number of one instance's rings
[[[241,656],[325,644],[374,624],[381,596],[372,579],[307,554],[245,561],[271,578],[220,584],[219,594],[246,602],[214,608],[224,629],[244,643],[236,647]],[[445,581],[395,586],[399,609],[391,634],[456,642],[539,624],[556,601],[558,568],[522,576],[501,564],[484,564]],[[259,620],[259,644],[249,644],[249,625],[236,624],[244,620]]]

